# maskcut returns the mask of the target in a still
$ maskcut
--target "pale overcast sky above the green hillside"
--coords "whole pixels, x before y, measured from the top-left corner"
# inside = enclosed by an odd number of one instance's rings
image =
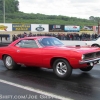
[[[64,15],[88,19],[100,17],[100,0],[18,0],[25,13]]]

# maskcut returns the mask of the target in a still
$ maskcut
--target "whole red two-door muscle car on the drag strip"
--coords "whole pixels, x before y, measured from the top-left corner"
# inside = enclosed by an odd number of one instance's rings
[[[72,69],[90,71],[100,60],[100,48],[65,46],[55,37],[26,37],[0,48],[0,59],[8,69],[52,68],[60,78],[69,78]]]

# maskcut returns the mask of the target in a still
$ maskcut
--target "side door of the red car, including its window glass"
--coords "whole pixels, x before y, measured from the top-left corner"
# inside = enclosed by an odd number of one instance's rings
[[[18,63],[29,66],[42,65],[42,48],[38,47],[35,40],[21,40],[15,45],[15,51],[17,54],[14,59]]]

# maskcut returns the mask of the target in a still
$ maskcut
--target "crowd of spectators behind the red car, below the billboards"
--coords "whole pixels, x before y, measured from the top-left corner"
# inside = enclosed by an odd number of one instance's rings
[[[23,37],[32,37],[32,36],[53,36],[60,40],[80,40],[80,41],[87,41],[91,39],[96,39],[99,35],[98,34],[87,34],[87,33],[38,33],[32,34],[31,32],[27,34],[24,32],[23,34],[14,35],[12,40],[15,41],[18,38]]]

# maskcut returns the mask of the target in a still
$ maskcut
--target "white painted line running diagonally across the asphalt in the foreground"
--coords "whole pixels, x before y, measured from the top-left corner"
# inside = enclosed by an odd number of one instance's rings
[[[46,96],[50,96],[50,97],[55,98],[55,99],[73,100],[71,98],[67,98],[67,97],[64,97],[64,96],[56,95],[56,94],[53,94],[53,93],[50,93],[50,92],[46,92],[46,91],[42,91],[42,90],[39,90],[39,89],[35,89],[35,88],[32,88],[32,87],[23,86],[23,85],[16,84],[16,83],[9,82],[9,81],[2,80],[2,79],[0,79],[0,82],[4,83],[4,84],[11,85],[11,86],[15,86],[15,87],[18,87],[18,88],[21,88],[21,89],[24,89],[24,90],[28,90],[28,91],[31,91],[31,92],[36,92],[38,94],[43,94],[43,95],[46,95]]]

